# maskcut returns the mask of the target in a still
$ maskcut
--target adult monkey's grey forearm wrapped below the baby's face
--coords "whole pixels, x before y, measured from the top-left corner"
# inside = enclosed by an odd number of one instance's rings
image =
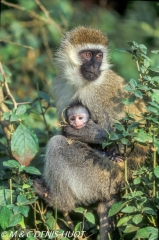
[[[63,127],[63,134],[67,138],[95,144],[102,144],[107,137],[106,131],[92,120],[89,120],[85,127],[78,130],[70,125],[65,126]]]

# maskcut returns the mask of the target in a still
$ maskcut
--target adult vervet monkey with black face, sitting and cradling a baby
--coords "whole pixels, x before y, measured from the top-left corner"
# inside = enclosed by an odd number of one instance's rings
[[[54,136],[47,145],[44,180],[49,189],[50,206],[72,211],[80,204],[99,201],[101,240],[107,240],[108,207],[123,181],[120,165],[102,157],[87,143],[101,144],[114,119],[125,112],[140,115],[144,103],[136,101],[129,107],[122,103],[127,97],[124,80],[112,70],[108,59],[108,40],[97,30],[77,27],[66,33],[56,58],[59,75],[53,83],[58,114],[73,101],[88,108],[91,120],[84,128],[64,128],[65,136]],[[73,139],[72,143],[68,138]],[[145,157],[138,148],[129,163],[134,166]],[[100,165],[104,164],[104,170]],[[37,187],[38,188],[38,187]],[[40,194],[40,190],[37,192]]]

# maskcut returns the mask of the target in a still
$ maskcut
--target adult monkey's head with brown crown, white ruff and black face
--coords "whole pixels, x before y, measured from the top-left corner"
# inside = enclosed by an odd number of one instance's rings
[[[108,63],[108,39],[97,29],[77,27],[67,32],[57,53],[62,75],[76,86],[100,81]]]

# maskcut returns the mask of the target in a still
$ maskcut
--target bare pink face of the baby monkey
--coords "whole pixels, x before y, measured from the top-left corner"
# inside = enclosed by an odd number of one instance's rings
[[[83,128],[88,121],[88,116],[85,113],[74,114],[69,116],[69,124],[75,129]]]

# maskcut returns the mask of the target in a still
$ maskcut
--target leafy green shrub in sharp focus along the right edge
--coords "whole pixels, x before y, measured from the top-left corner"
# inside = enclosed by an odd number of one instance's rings
[[[115,131],[109,134],[109,139],[103,145],[115,142],[117,146],[123,145],[125,162],[137,144],[144,144],[151,149],[149,166],[139,167],[133,171],[133,182],[128,182],[127,164],[125,164],[125,194],[122,201],[115,203],[109,210],[109,216],[119,214],[117,227],[122,236],[132,239],[158,239],[157,221],[159,211],[159,92],[158,92],[158,68],[151,68],[151,60],[147,57],[147,48],[143,44],[128,42],[130,50],[119,49],[128,52],[136,61],[139,79],[130,79],[125,91],[131,94],[124,100],[126,105],[135,100],[143,99],[146,103],[145,113],[141,113],[139,120],[127,113],[126,117],[114,124]],[[155,51],[158,53],[158,50]]]

